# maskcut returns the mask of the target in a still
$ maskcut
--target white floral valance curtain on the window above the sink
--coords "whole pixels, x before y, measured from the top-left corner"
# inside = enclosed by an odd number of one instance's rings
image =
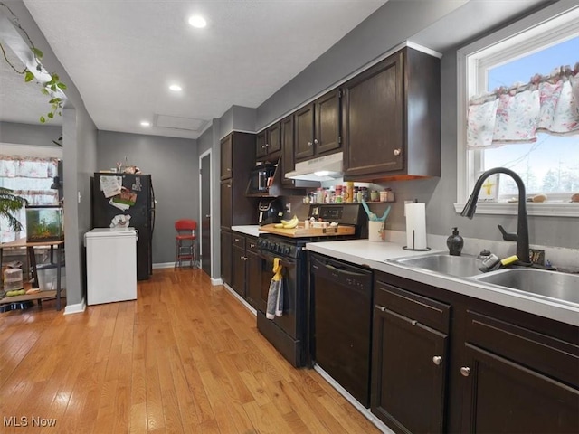
[[[467,122],[470,149],[535,142],[537,132],[579,132],[579,63],[470,99]]]

